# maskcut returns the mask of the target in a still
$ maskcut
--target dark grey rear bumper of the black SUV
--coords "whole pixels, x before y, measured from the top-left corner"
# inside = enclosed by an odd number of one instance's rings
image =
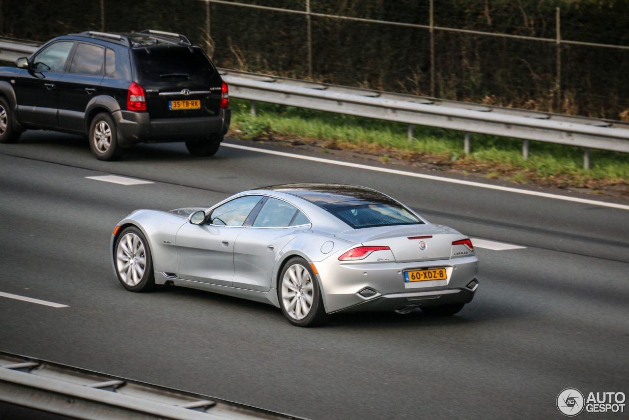
[[[221,108],[219,115],[199,118],[162,118],[151,120],[146,112],[116,111],[118,142],[123,147],[142,142],[184,142],[216,135],[230,128],[231,110]]]

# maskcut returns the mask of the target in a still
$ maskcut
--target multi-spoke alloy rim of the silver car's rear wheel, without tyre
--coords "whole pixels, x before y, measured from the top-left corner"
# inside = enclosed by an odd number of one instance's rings
[[[313,279],[301,264],[292,264],[282,278],[282,303],[292,319],[304,319],[314,299]]]

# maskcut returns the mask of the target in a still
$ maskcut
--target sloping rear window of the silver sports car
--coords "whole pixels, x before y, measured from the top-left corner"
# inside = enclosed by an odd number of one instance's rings
[[[391,204],[363,204],[328,209],[353,229],[390,225],[421,225],[422,222],[406,208]]]

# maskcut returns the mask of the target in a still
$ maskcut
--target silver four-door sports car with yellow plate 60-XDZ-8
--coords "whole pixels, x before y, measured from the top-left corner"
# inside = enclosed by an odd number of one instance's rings
[[[467,236],[378,191],[340,184],[136,210],[114,229],[111,257],[131,292],[172,284],[224,293],[275,305],[302,327],[336,312],[452,315],[478,288]]]

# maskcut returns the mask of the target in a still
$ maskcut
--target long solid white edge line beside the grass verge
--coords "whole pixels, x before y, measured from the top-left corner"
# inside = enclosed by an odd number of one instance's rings
[[[575,201],[576,203],[592,204],[592,205],[597,205],[597,206],[621,208],[622,210],[629,210],[629,205],[606,203],[605,201],[588,200],[587,198],[577,198],[577,197],[570,197],[570,196],[565,196],[565,195],[542,193],[540,191],[520,190],[518,188],[511,188],[508,186],[483,184],[483,183],[477,183],[474,181],[464,181],[462,179],[444,178],[443,176],[416,174],[413,172],[399,171],[398,169],[389,169],[386,167],[369,166],[369,165],[362,165],[362,164],[350,163],[350,162],[338,162],[338,161],[332,161],[331,159],[323,159],[321,157],[301,156],[298,154],[276,152],[275,150],[258,149],[257,147],[241,146],[238,144],[223,143],[221,145],[226,146],[226,147],[233,147],[234,149],[251,150],[252,152],[274,154],[277,156],[296,157],[297,159],[304,159],[305,161],[314,161],[314,162],[330,163],[330,164],[340,165],[340,166],[357,167],[359,169],[368,169],[369,171],[386,172],[389,174],[413,176],[415,178],[423,178],[423,179],[432,179],[434,181],[443,181],[443,182],[448,182],[452,184],[462,184],[462,185],[469,185],[469,186],[477,186],[480,188],[489,188],[489,190],[509,191],[510,193],[535,195],[538,197],[555,198],[556,200]]]

